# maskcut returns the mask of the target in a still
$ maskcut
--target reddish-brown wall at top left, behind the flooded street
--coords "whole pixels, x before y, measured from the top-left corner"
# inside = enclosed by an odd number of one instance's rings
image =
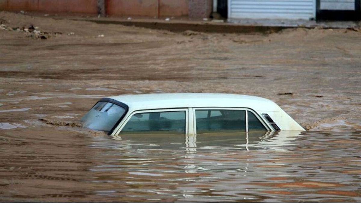
[[[212,0],[105,0],[110,16],[208,17]],[[0,0],[0,10],[98,13],[97,0]],[[191,12],[190,12],[191,10]]]

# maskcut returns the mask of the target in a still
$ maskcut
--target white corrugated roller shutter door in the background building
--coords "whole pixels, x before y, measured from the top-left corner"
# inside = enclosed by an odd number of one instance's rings
[[[228,0],[228,18],[304,19],[316,17],[316,0]]]

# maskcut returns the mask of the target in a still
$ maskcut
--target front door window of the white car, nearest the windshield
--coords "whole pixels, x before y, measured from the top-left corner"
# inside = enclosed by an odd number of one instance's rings
[[[121,134],[144,133],[186,133],[186,112],[150,112],[136,113],[126,123]]]

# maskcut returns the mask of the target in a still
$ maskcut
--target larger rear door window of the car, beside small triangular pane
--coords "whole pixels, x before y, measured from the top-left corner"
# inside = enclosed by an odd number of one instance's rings
[[[245,110],[196,110],[197,134],[245,132]]]

